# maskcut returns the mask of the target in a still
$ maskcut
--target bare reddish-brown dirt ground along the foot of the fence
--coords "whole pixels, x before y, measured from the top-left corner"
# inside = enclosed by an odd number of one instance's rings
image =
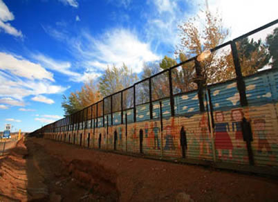
[[[278,201],[278,181],[41,138],[0,160],[0,201]]]

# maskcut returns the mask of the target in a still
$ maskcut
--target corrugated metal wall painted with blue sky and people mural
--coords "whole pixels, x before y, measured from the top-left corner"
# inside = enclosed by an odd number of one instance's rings
[[[101,149],[182,158],[185,148],[185,158],[212,161],[215,154],[216,162],[247,165],[250,163],[248,149],[241,128],[241,120],[245,117],[252,129],[254,164],[278,166],[278,71],[265,71],[244,80],[248,107],[240,107],[237,82],[232,80],[208,86],[210,91],[204,91],[206,111],[202,113],[198,92],[191,91],[174,96],[174,117],[171,117],[170,100],[166,98],[152,102],[152,120],[149,120],[149,103],[140,104],[136,107],[136,122],[133,122],[133,109],[127,109],[123,111],[123,124],[121,112],[115,112],[113,125],[111,114],[107,114],[104,127],[99,117],[95,119],[98,127],[94,130],[91,122],[87,124],[88,129],[83,129],[80,122],[82,129],[78,131],[56,131],[45,137],[64,141],[66,134],[67,143],[80,145],[82,134],[82,146],[88,147],[90,133],[89,147],[98,148],[102,134]],[[185,146],[180,140],[181,134],[186,138]]]

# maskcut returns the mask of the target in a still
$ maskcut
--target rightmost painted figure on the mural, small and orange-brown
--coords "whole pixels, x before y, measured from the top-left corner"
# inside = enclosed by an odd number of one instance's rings
[[[261,153],[263,148],[266,148],[268,154],[272,154],[268,139],[266,137],[266,120],[256,119],[254,122],[254,131],[258,136],[258,152]]]

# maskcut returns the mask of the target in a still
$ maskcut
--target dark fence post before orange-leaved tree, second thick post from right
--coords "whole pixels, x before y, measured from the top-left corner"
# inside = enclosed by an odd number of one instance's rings
[[[198,85],[198,100],[199,100],[199,107],[200,111],[205,111],[204,100],[203,100],[203,84],[205,83],[204,77],[202,75],[201,64],[198,62],[196,57],[194,58],[195,62],[195,69],[196,69],[196,76],[197,76],[197,85]]]

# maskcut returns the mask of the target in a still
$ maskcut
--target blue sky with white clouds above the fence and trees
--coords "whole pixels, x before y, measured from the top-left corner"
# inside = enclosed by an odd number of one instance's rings
[[[0,131],[6,123],[33,131],[62,118],[62,95],[97,80],[107,65],[124,62],[140,73],[143,62],[172,57],[178,24],[200,14],[200,4],[0,0]],[[276,1],[208,4],[221,13],[230,38],[277,19]]]

